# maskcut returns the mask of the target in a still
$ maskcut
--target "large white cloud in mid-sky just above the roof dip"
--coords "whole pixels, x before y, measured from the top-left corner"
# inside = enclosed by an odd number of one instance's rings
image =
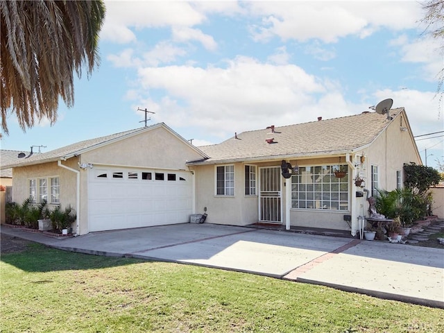
[[[159,110],[156,117],[173,127],[199,126],[202,136],[311,119],[307,105],[324,92],[300,67],[246,57],[229,60],[226,68],[146,67],[139,70],[139,80],[146,92],[164,91],[162,99],[151,101],[151,109]]]

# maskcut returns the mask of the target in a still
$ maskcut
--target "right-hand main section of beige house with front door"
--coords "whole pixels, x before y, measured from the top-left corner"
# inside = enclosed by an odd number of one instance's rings
[[[210,223],[259,221],[355,235],[367,196],[402,187],[403,164],[421,164],[404,108],[389,115],[320,117],[199,147],[210,158],[187,164],[196,173],[196,210],[207,207]],[[283,161],[293,168],[289,178],[281,176]],[[334,176],[338,168],[347,171],[344,178]],[[357,177],[364,188],[355,185]]]

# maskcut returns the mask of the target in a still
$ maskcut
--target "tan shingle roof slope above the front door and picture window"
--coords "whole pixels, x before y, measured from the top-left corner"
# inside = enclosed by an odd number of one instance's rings
[[[390,110],[395,118],[404,108]],[[392,120],[393,121],[393,120]],[[299,123],[271,129],[253,130],[232,137],[221,144],[200,146],[208,160],[189,164],[212,164],[273,158],[303,157],[346,153],[373,142],[388,126],[386,115],[363,112],[348,117]],[[266,139],[274,138],[273,144]]]

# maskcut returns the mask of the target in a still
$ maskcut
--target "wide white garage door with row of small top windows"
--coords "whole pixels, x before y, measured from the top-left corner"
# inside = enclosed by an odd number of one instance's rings
[[[88,178],[89,232],[189,221],[189,171],[94,167]]]

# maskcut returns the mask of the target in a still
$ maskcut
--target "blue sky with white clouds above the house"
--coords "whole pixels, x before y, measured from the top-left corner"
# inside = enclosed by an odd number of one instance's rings
[[[50,151],[142,127],[138,108],[155,112],[148,124],[167,123],[196,146],[234,132],[359,114],[388,98],[406,109],[413,135],[444,130],[435,98],[444,58],[422,33],[418,1],[105,6],[101,65],[76,80],[74,107],[60,102],[53,126],[43,119],[26,133],[9,117],[2,149]],[[421,138],[422,161],[427,149],[429,166],[442,162],[443,133]]]

